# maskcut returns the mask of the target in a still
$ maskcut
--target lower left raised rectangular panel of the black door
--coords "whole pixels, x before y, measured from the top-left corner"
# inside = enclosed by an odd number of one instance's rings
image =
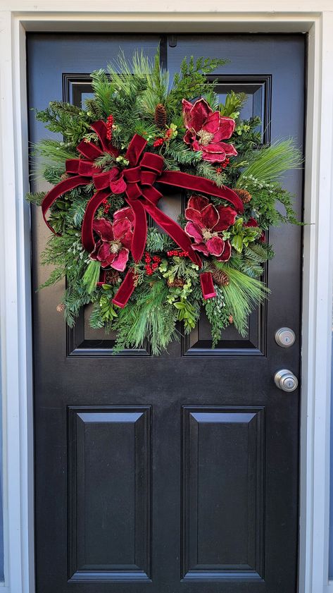
[[[150,408],[68,408],[70,581],[150,580]]]

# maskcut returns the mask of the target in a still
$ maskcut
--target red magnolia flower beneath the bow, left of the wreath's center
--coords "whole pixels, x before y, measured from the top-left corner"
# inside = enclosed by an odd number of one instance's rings
[[[134,214],[131,208],[122,208],[113,214],[113,224],[106,219],[96,219],[93,224],[100,240],[90,254],[98,259],[102,268],[111,266],[124,271],[132,245]]]

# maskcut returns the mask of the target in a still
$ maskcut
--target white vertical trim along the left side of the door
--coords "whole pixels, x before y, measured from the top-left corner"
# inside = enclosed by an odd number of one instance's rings
[[[25,42],[1,15],[1,370],[5,589],[33,592],[32,356]],[[21,27],[21,25],[19,25]],[[23,69],[14,69],[13,63]],[[4,282],[4,281],[5,282]],[[29,475],[28,475],[29,473]],[[28,519],[30,515],[30,519]],[[30,588],[29,588],[30,587]]]

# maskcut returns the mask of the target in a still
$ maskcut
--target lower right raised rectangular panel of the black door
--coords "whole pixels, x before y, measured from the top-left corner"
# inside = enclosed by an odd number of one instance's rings
[[[265,408],[184,407],[182,429],[183,579],[263,580]]]

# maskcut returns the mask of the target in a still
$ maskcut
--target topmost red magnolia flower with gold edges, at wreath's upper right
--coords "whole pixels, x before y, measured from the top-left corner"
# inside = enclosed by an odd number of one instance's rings
[[[202,150],[204,161],[222,163],[229,154],[237,154],[232,144],[222,142],[229,140],[234,132],[234,120],[223,117],[220,111],[213,111],[205,99],[198,99],[191,104],[182,100],[184,123],[187,133],[186,142],[193,150]]]

